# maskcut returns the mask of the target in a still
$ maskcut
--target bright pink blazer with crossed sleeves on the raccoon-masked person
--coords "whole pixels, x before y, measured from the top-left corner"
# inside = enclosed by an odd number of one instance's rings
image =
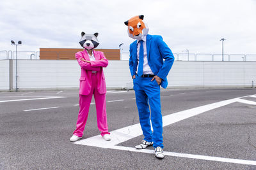
[[[92,89],[92,71],[97,71],[98,85],[97,89],[100,94],[106,94],[106,81],[102,67],[108,66],[108,60],[104,56],[103,52],[93,50],[95,61],[91,63],[84,62],[81,60],[90,60],[86,50],[76,53],[76,60],[81,66],[81,77],[80,77],[80,95],[88,95]],[[103,59],[103,60],[101,60]]]

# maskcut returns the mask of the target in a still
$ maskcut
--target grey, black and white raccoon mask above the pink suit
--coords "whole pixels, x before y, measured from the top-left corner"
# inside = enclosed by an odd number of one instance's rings
[[[81,32],[81,39],[79,41],[79,44],[83,46],[83,48],[87,50],[92,50],[93,48],[96,48],[99,45],[99,41],[97,39],[98,33],[94,34],[85,34],[84,32]]]

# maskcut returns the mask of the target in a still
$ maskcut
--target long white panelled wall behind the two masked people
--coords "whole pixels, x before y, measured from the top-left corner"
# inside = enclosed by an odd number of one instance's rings
[[[180,62],[168,74],[169,87],[252,87],[256,62]],[[78,88],[81,69],[76,60],[18,60],[19,89]],[[107,88],[127,87],[132,79],[128,61],[109,60],[104,68]],[[0,90],[16,88],[15,60],[0,60]],[[11,80],[11,81],[10,81]]]

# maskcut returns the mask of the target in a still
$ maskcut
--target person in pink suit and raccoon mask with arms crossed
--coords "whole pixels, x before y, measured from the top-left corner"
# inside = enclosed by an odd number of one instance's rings
[[[77,141],[82,138],[84,127],[88,118],[90,103],[94,96],[97,112],[98,129],[102,138],[110,140],[108,132],[108,122],[106,113],[106,81],[102,67],[108,66],[108,60],[103,52],[95,51],[99,45],[98,33],[81,33],[80,45],[85,49],[76,53],[76,60],[81,66],[81,78],[79,88],[79,113],[77,118],[76,130],[70,141]]]

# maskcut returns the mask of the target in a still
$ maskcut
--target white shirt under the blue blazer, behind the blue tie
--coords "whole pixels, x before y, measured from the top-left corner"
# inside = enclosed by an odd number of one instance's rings
[[[147,40],[147,36],[143,37],[143,74],[154,74],[153,71],[150,69],[150,67],[148,66],[148,56],[147,56],[147,44],[146,44],[146,40]],[[137,60],[138,60],[138,65],[137,65],[137,70],[136,73],[138,73],[138,69],[139,69],[139,63],[140,63],[140,40],[137,39]]]

